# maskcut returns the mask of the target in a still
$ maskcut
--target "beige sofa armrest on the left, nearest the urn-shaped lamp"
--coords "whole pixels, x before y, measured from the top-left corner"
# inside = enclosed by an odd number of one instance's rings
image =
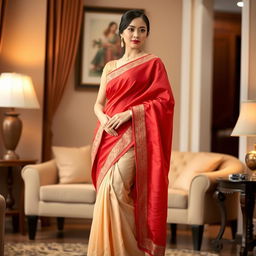
[[[40,186],[57,183],[58,173],[55,160],[27,165],[22,169],[21,176],[25,184],[25,214],[37,215]]]

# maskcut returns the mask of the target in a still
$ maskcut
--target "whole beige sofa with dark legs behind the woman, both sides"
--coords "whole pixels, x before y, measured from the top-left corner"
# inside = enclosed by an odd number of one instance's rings
[[[209,164],[210,163],[210,164]],[[200,249],[203,225],[219,223],[218,208],[213,199],[216,179],[239,173],[244,165],[236,158],[214,153],[173,152],[169,173],[168,219],[172,224],[192,225],[194,248]],[[91,183],[58,184],[56,161],[28,165],[22,170],[25,182],[25,214],[29,238],[35,239],[38,216],[92,218],[96,194]],[[237,219],[238,198],[228,196],[228,220]]]

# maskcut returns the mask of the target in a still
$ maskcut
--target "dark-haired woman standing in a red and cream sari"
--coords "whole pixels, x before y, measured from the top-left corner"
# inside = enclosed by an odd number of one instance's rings
[[[102,74],[94,107],[97,199],[88,256],[165,252],[174,99],[163,63],[143,51],[149,30],[143,12],[126,12],[119,26],[124,56]]]

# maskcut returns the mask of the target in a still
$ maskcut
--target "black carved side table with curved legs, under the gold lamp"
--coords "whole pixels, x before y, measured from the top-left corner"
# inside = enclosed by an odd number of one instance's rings
[[[243,235],[240,255],[246,256],[256,246],[256,239],[253,237],[253,211],[255,205],[256,181],[230,181],[218,179],[215,198],[221,209],[221,228],[217,238],[214,240],[216,249],[220,248],[220,241],[226,227],[226,209],[224,205],[225,194],[240,192],[240,203],[243,214]]]

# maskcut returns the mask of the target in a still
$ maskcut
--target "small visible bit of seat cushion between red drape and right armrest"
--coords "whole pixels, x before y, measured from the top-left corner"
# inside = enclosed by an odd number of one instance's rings
[[[188,193],[180,189],[168,189],[168,208],[188,208]]]

